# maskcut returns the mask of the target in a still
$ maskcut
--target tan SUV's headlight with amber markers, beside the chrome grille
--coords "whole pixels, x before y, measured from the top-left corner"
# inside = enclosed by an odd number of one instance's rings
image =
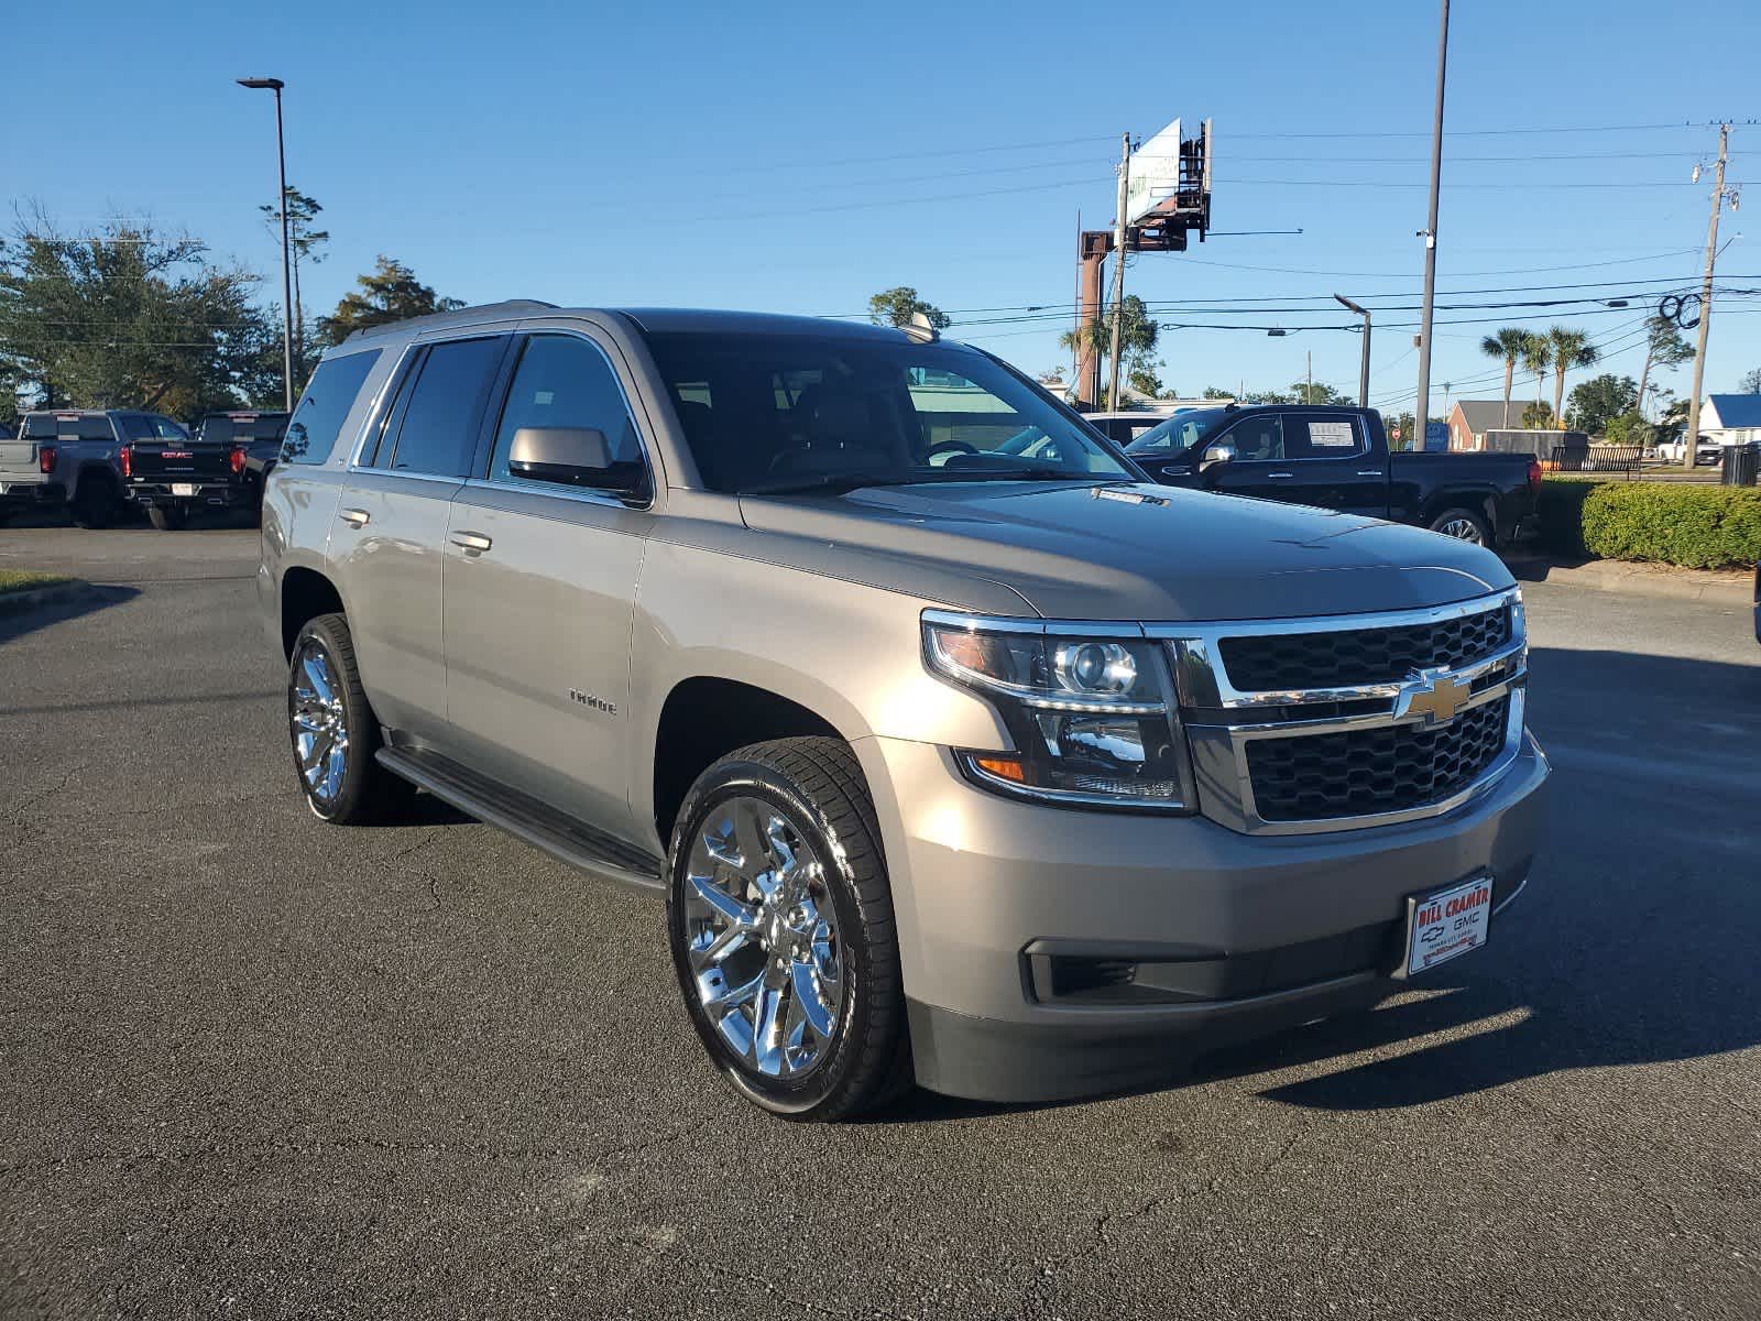
[[[1014,742],[1013,752],[954,749],[962,771],[1020,798],[1190,812],[1192,768],[1160,646],[1069,627],[925,611],[930,669],[981,692]]]

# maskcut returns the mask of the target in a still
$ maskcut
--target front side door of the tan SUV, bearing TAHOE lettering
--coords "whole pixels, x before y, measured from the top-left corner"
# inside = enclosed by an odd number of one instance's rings
[[[472,766],[629,838],[630,622],[650,500],[509,472],[514,432],[601,432],[648,463],[611,343],[521,336],[484,463],[453,498],[446,544],[451,738]],[[486,428],[490,430],[490,428]],[[655,490],[648,467],[648,490]]]

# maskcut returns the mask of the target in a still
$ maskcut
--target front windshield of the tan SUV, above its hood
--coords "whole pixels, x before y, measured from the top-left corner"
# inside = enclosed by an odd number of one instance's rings
[[[970,349],[715,331],[648,343],[715,491],[1139,479],[1101,437]]]

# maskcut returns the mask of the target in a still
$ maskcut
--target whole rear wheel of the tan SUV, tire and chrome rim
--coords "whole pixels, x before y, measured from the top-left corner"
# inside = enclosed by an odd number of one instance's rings
[[[416,787],[373,759],[379,720],[361,689],[342,615],[319,615],[294,638],[287,664],[287,731],[294,775],[321,821],[357,826],[405,808]]]

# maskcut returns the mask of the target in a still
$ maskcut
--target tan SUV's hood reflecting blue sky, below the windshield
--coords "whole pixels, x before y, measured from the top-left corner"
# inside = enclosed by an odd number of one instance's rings
[[[1006,583],[1046,618],[1250,620],[1469,601],[1511,585],[1492,551],[1326,509],[1168,486],[960,483],[745,497],[755,532]],[[782,546],[778,546],[778,553]],[[791,557],[792,558],[792,557]],[[933,590],[925,592],[933,599]]]

